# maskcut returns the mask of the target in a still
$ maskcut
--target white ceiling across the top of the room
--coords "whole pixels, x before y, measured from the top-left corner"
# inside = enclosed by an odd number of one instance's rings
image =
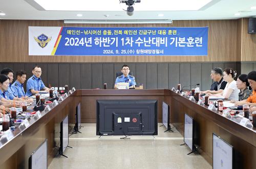
[[[27,0],[33,2],[33,0]],[[38,0],[37,0],[38,1]],[[48,0],[45,0],[48,1]],[[55,1],[55,0],[51,0]],[[50,2],[51,2],[50,1]],[[65,0],[67,1],[67,0]],[[256,6],[256,0],[212,0],[210,3],[203,6],[197,11],[170,11],[174,8],[167,8],[164,4],[164,0],[141,0],[140,5],[135,4],[134,15],[128,16],[122,9],[116,9],[116,11],[109,10],[110,7],[102,3],[102,0],[76,0],[88,2],[89,8],[84,9],[101,9],[98,11],[70,11],[67,7],[62,8],[69,11],[46,11],[43,8],[37,7],[37,9],[31,6],[25,0],[0,0],[0,11],[3,11],[6,15],[1,16],[0,19],[32,19],[32,20],[148,20],[148,19],[173,19],[173,20],[201,20],[201,19],[238,19],[241,17],[256,16],[256,9],[250,9],[252,6]],[[97,2],[92,3],[90,2]],[[104,0],[108,5],[111,3],[113,6],[119,6],[119,0]],[[173,0],[169,0],[173,1]],[[181,0],[179,0],[181,1]],[[192,1],[192,0],[190,0]],[[197,0],[195,3],[207,0]],[[72,3],[74,1],[70,1]],[[159,11],[153,11],[152,2],[157,5],[156,8]],[[115,4],[115,5],[114,5]],[[183,3],[184,4],[184,3]],[[96,6],[97,5],[97,6]],[[163,10],[159,9],[162,6]],[[181,3],[182,5],[182,3]],[[70,5],[71,6],[71,5]],[[77,5],[79,6],[79,4]],[[96,7],[95,7],[96,6]],[[117,7],[118,7],[117,6]],[[180,4],[176,4],[180,7]],[[119,8],[118,7],[118,8]],[[136,10],[137,7],[137,10]],[[142,9],[143,7],[143,9]],[[151,9],[152,11],[145,11]],[[154,4],[153,4],[154,7]],[[120,7],[121,8],[121,7]],[[55,9],[55,8],[52,8]],[[78,8],[82,10],[83,8]],[[104,11],[102,10],[104,9]],[[138,11],[138,10],[143,11]],[[180,8],[179,8],[180,9]],[[182,9],[182,8],[181,8]],[[71,10],[75,10],[72,8]],[[169,11],[166,11],[169,10]],[[240,13],[239,16],[235,16],[235,13]],[[81,17],[76,16],[82,14]],[[163,16],[158,16],[163,14]]]

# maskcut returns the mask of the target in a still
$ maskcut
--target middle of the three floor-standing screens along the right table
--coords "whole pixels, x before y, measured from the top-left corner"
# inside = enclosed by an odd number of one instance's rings
[[[194,147],[194,119],[185,114],[184,118],[184,143],[191,149],[192,152],[195,151]]]

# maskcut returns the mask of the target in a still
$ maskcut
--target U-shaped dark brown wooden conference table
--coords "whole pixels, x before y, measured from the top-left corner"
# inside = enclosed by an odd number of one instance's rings
[[[168,89],[153,90],[76,90],[49,112],[20,131],[0,146],[1,168],[28,168],[31,153],[48,139],[48,165],[54,156],[54,126],[67,115],[75,123],[76,106],[81,103],[81,123],[96,123],[96,100],[157,100],[158,122],[162,121],[162,102],[170,106],[170,123],[184,135],[184,114],[195,120],[198,131],[198,152],[212,165],[212,133],[233,146],[234,165],[255,168],[256,128],[245,127]],[[96,134],[96,129],[95,129]],[[182,142],[181,142],[182,144]],[[167,148],[166,148],[167,149]],[[185,162],[185,161],[184,161]]]

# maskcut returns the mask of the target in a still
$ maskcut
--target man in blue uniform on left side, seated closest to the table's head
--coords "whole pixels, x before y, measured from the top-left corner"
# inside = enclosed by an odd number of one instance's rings
[[[49,92],[49,88],[45,86],[44,82],[42,82],[42,79],[40,78],[42,74],[41,68],[39,66],[35,66],[32,70],[32,73],[34,75],[31,76],[27,81],[26,96],[30,97],[33,94],[39,93],[41,90]]]

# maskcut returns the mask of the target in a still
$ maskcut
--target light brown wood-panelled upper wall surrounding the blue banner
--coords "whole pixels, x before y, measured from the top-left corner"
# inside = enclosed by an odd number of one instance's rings
[[[245,24],[244,20],[243,25]],[[123,63],[123,62],[236,62],[241,61],[239,42],[240,20],[174,20],[173,24],[64,24],[61,20],[1,20],[0,22],[0,62],[37,63]],[[169,27],[169,26],[209,26],[208,56],[29,56],[28,26],[101,26],[101,27]],[[240,27],[239,27],[240,26]],[[238,37],[239,36],[239,37]],[[256,61],[255,38],[243,33],[243,60]],[[254,36],[255,37],[255,36]],[[254,49],[252,49],[254,47]]]

